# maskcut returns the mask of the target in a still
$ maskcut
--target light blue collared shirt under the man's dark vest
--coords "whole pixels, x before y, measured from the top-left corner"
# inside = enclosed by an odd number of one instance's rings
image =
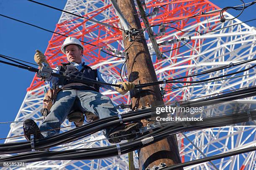
[[[75,67],[77,67],[77,69],[80,71],[82,70],[83,66],[84,66],[84,62],[81,62],[80,64],[77,64],[75,62],[71,62]],[[56,67],[54,70],[52,70],[53,72],[59,74],[59,67]],[[97,71],[97,76],[98,76],[98,81],[100,82],[106,82],[109,84],[116,84],[118,82],[118,80],[114,77],[110,77],[107,75],[104,75],[103,73]],[[51,76],[48,79],[46,79],[46,82],[49,83],[49,85],[51,86],[53,83],[57,84],[59,81],[58,77],[54,77]],[[109,90],[115,90],[112,86],[110,85],[100,85],[100,87],[104,87],[106,89]]]

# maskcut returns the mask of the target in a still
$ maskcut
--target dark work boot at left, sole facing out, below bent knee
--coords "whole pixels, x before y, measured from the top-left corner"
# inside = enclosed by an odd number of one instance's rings
[[[31,119],[27,119],[23,122],[23,130],[26,140],[30,142],[30,135],[34,135],[34,139],[44,139],[44,136],[40,133],[40,129],[38,128],[36,122]]]

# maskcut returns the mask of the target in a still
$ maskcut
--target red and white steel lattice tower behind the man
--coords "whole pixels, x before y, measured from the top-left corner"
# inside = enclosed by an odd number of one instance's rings
[[[171,0],[148,0],[146,1],[147,13],[151,13],[154,7],[164,5]],[[166,5],[160,8],[159,14],[155,18],[149,18],[151,25],[160,23],[167,23],[173,20],[186,18],[192,16],[197,12],[206,12],[219,9],[216,5],[208,0],[177,0],[172,4]],[[119,24],[119,18],[115,14],[110,0],[67,0],[67,4],[64,10],[77,15],[92,18],[116,27],[121,27]],[[233,18],[232,15],[224,13],[226,18]],[[222,24],[219,22],[219,13],[209,14],[209,23],[212,29],[221,28]],[[225,26],[241,23],[240,20],[227,20]],[[143,24],[143,23],[142,23]],[[177,23],[170,24],[169,26],[179,28],[184,31],[197,30],[199,32],[209,31],[207,25],[207,19],[205,15],[198,16],[196,18],[182,20]],[[142,25],[144,27],[144,25]],[[154,32],[158,32],[159,28],[154,28]],[[56,25],[55,32],[65,34],[72,37],[77,37],[79,40],[90,42],[97,46],[110,47],[111,49],[123,50],[122,32],[113,28],[108,28],[97,23],[90,22],[88,20],[62,13],[59,22]],[[169,40],[172,38],[181,38],[188,36],[195,36],[196,32],[184,33],[174,29],[167,29],[166,34],[162,37],[157,37],[157,41]],[[47,60],[52,67],[59,65],[61,62],[66,61],[66,56],[61,53],[60,47],[65,37],[61,35],[52,35],[49,45],[45,51]],[[201,36],[193,37],[189,43],[172,52],[164,53],[166,59],[157,60],[155,56],[152,56],[156,75],[158,80],[171,79],[180,77],[183,75],[189,75],[193,73],[206,70],[214,66],[227,65],[230,62],[239,62],[243,60],[252,59],[255,56],[255,40],[256,30],[246,24],[235,25],[220,32],[210,32]],[[47,43],[47,42],[46,42]],[[161,51],[170,50],[183,45],[185,42],[181,41],[177,44],[170,45],[168,47],[161,47]],[[94,69],[99,69],[106,75],[110,75],[120,79],[120,66],[124,62],[124,59],[112,57],[101,52],[99,48],[83,44],[84,45],[84,61],[87,65],[90,65]],[[154,50],[151,42],[148,41],[148,47],[152,54]],[[240,65],[239,67],[231,67],[228,70],[213,72],[211,74],[191,77],[186,80],[204,80],[208,77],[216,77],[223,75],[224,73],[230,73],[237,70],[243,70],[255,64]],[[248,73],[255,72],[250,70],[243,72]],[[234,75],[236,76],[236,75]],[[203,95],[212,95],[217,92],[223,92],[226,90],[234,90],[241,87],[248,87],[256,84],[255,75],[247,75],[244,77],[238,77],[235,79],[222,80],[219,82],[211,82],[204,85],[191,86],[186,88],[180,88],[168,92],[165,95],[165,101],[173,100],[187,100]],[[182,83],[169,84],[165,87],[176,87],[186,85]],[[42,99],[44,96],[44,82],[41,82],[36,76],[34,77],[30,87],[27,89],[27,94],[20,107],[20,110],[15,118],[15,121],[22,121],[27,118],[36,119],[40,117],[40,110],[42,107]],[[161,85],[161,87],[164,87]],[[115,105],[120,103],[130,104],[130,96],[119,95],[117,92],[101,89],[102,94],[110,97]],[[253,102],[253,97],[243,99],[242,101]],[[240,100],[241,101],[241,100]],[[255,101],[255,100],[254,100]],[[125,112],[124,110],[121,110]],[[212,111],[214,112],[214,111]],[[41,124],[42,121],[38,121]],[[253,122],[254,123],[254,122]],[[62,126],[71,125],[67,120]],[[255,125],[255,123],[254,123]],[[70,130],[71,128],[62,128],[61,132]],[[205,130],[198,130],[185,133],[192,142],[206,155],[216,155],[220,153],[226,153],[241,148],[255,146],[256,140],[256,128],[255,126],[228,126],[221,128],[211,128]],[[22,122],[11,124],[8,137],[23,134]],[[89,137],[74,141],[70,144],[79,144],[84,142],[90,142],[100,140],[104,138],[101,132],[93,134]],[[188,160],[196,160],[203,158],[202,154],[195,149],[195,147],[184,138],[182,134],[177,135],[179,143],[179,151],[182,162]],[[25,140],[25,138],[9,138],[5,140],[5,143],[18,142]],[[101,140],[97,142],[85,143],[81,145],[73,145],[68,148],[59,148],[56,150],[67,150],[75,148],[93,148],[103,147],[109,145],[107,141]],[[136,158],[135,158],[136,159]],[[215,160],[213,163],[219,169],[229,170],[252,170],[256,168],[255,164],[256,154],[255,152],[244,153],[241,155],[228,157],[225,159]],[[136,166],[138,167],[138,163]],[[30,163],[28,168],[64,168],[69,167],[72,169],[128,169],[128,155],[122,155],[121,159],[106,158],[102,160],[69,160],[69,161],[43,161]],[[210,170],[214,169],[212,165],[207,163],[201,163],[192,165],[184,169],[202,169]]]

